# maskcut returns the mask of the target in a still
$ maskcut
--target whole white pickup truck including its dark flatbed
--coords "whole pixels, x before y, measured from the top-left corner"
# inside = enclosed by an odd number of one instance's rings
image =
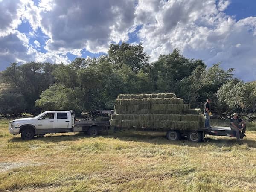
[[[10,134],[20,134],[23,140],[30,140],[35,135],[65,132],[86,132],[95,136],[99,131],[109,128],[109,121],[75,121],[72,111],[45,111],[33,118],[15,119],[9,122]]]

